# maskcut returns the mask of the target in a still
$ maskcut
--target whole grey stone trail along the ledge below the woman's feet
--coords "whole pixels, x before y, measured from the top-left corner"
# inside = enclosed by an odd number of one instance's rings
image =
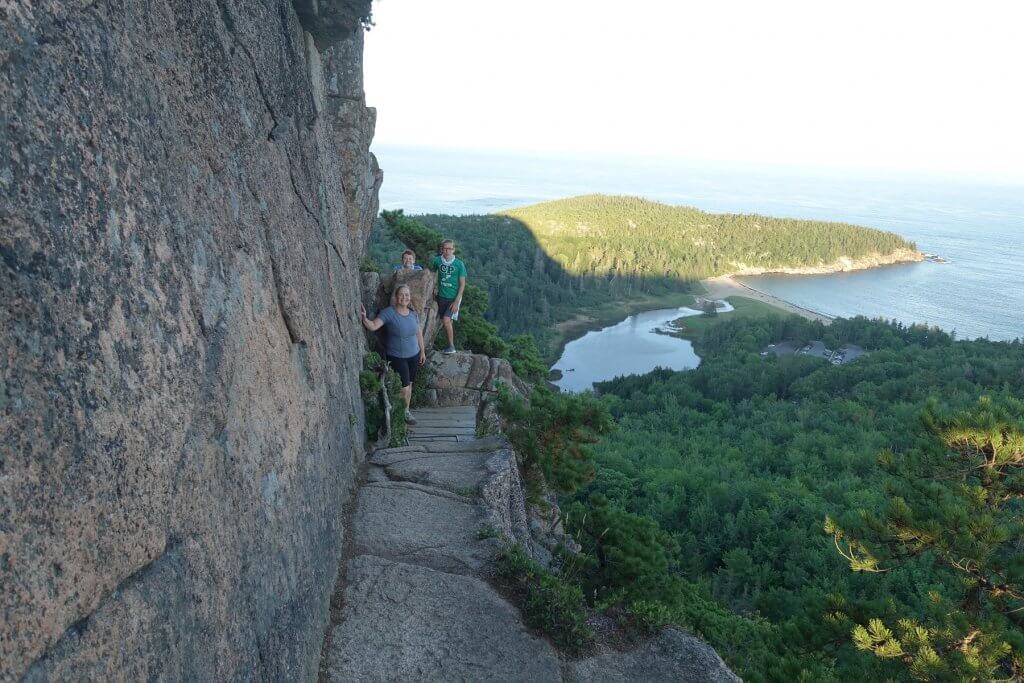
[[[479,538],[488,525],[529,543],[512,451],[475,437],[473,408],[414,415],[410,445],[370,457],[322,681],[738,680],[676,631],[574,660],[530,633],[486,581],[504,541]]]

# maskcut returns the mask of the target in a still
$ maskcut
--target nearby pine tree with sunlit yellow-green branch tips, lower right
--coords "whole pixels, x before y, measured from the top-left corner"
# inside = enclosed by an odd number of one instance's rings
[[[922,439],[883,454],[891,473],[886,514],[865,514],[880,548],[826,531],[857,571],[884,572],[927,557],[952,580],[929,592],[925,614],[853,630],[857,647],[903,660],[920,680],[1021,680],[1024,676],[1024,402],[982,397],[940,415],[930,403]]]

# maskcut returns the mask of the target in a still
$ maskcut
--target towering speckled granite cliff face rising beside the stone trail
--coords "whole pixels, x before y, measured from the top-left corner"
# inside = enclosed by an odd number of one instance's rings
[[[0,679],[315,675],[381,179],[359,4],[0,4]]]

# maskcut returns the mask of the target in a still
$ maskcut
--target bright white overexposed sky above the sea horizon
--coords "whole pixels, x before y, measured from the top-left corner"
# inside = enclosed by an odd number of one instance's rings
[[[1024,2],[376,0],[377,143],[1024,181]]]

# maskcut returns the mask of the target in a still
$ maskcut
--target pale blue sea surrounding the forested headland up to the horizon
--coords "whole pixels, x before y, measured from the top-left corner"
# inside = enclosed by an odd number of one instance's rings
[[[384,169],[382,207],[407,213],[488,213],[606,193],[892,230],[950,262],[744,282],[833,315],[928,323],[961,338],[1024,338],[1024,186],[655,160],[374,151]]]

